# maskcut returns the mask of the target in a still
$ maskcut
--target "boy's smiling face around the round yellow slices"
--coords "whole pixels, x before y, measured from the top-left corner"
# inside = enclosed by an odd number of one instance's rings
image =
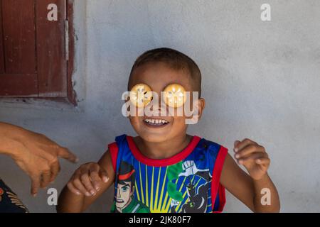
[[[147,84],[153,92],[158,94],[159,101],[162,103],[162,105],[159,103],[158,106],[158,116],[129,116],[134,131],[144,140],[159,143],[176,138],[178,135],[186,134],[187,125],[185,116],[173,116],[176,114],[161,116],[160,114],[161,108],[168,108],[164,104],[164,101],[161,100],[161,92],[169,84],[180,84],[186,89],[186,92],[193,92],[193,80],[186,73],[185,70],[173,70],[162,62],[146,63],[137,67],[132,72],[129,90],[136,84]],[[201,115],[203,107],[204,100],[201,99],[200,108],[198,107],[199,115]],[[161,126],[151,126],[146,123],[146,119],[165,120],[168,123]]]

